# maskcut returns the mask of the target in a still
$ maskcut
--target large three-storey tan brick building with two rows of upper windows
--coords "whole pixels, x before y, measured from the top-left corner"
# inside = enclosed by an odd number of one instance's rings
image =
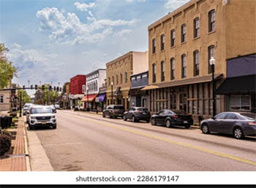
[[[217,87],[226,60],[255,50],[255,0],[192,0],[148,26],[149,109],[212,115],[211,56]],[[217,95],[217,113],[225,96]]]

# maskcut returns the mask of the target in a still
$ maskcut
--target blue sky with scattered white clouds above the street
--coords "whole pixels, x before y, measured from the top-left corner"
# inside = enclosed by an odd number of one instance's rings
[[[0,0],[0,43],[19,85],[60,86],[148,50],[148,26],[189,0]],[[29,91],[31,95],[34,91]]]

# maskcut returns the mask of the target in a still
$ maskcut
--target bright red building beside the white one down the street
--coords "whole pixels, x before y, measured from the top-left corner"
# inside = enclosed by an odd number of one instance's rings
[[[86,75],[76,75],[70,79],[70,107],[78,106],[78,100],[83,98],[83,85],[86,85]]]

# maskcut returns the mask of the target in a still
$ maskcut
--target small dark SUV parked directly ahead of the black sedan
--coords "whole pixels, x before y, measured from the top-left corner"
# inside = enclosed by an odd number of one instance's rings
[[[146,122],[150,121],[150,112],[145,107],[132,107],[128,111],[124,112],[124,121],[132,120],[132,122],[138,122],[144,120]]]

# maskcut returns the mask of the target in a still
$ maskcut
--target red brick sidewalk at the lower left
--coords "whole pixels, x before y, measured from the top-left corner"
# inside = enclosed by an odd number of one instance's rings
[[[12,140],[10,152],[0,157],[0,171],[30,171],[23,117],[18,118],[17,124],[17,129],[7,129],[15,135],[15,140]]]

